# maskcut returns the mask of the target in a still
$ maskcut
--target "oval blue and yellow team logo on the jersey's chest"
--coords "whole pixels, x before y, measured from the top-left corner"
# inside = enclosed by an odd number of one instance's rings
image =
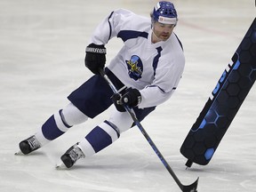
[[[140,79],[143,71],[143,65],[140,57],[132,55],[131,60],[125,60],[125,62],[129,70],[129,76],[135,81]]]

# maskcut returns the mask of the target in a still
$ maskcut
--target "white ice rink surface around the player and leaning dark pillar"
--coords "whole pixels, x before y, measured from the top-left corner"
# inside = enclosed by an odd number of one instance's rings
[[[198,192],[256,191],[256,88],[242,107],[210,164],[193,164],[180,146],[256,16],[254,0],[174,0],[176,34],[186,68],[172,98],[141,124],[181,182],[199,176]],[[56,171],[60,156],[108,119],[101,116],[72,128],[29,156],[14,156],[66,97],[92,73],[84,49],[109,12],[125,8],[148,15],[153,0],[0,0],[0,191],[1,192],[179,192],[169,172],[137,127],[74,168]],[[109,42],[114,57],[121,40]]]

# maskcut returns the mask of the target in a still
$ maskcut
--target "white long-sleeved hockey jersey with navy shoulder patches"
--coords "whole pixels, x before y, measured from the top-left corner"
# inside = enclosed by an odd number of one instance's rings
[[[108,68],[127,87],[141,93],[139,108],[157,106],[168,100],[182,76],[185,58],[177,36],[152,44],[151,20],[128,10],[119,9],[102,20],[90,43],[108,44],[120,37],[124,46],[110,61]]]

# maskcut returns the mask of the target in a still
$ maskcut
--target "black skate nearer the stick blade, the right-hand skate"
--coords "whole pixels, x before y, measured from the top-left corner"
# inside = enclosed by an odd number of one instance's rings
[[[76,143],[71,148],[68,148],[66,153],[60,157],[61,161],[67,168],[72,167],[76,161],[80,158],[84,158],[84,153],[81,148],[78,147],[78,143]]]

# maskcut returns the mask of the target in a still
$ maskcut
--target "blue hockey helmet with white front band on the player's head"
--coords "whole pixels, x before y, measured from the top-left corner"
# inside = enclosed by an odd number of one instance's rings
[[[158,2],[152,12],[152,20],[164,24],[176,25],[178,15],[174,5],[168,1]]]

